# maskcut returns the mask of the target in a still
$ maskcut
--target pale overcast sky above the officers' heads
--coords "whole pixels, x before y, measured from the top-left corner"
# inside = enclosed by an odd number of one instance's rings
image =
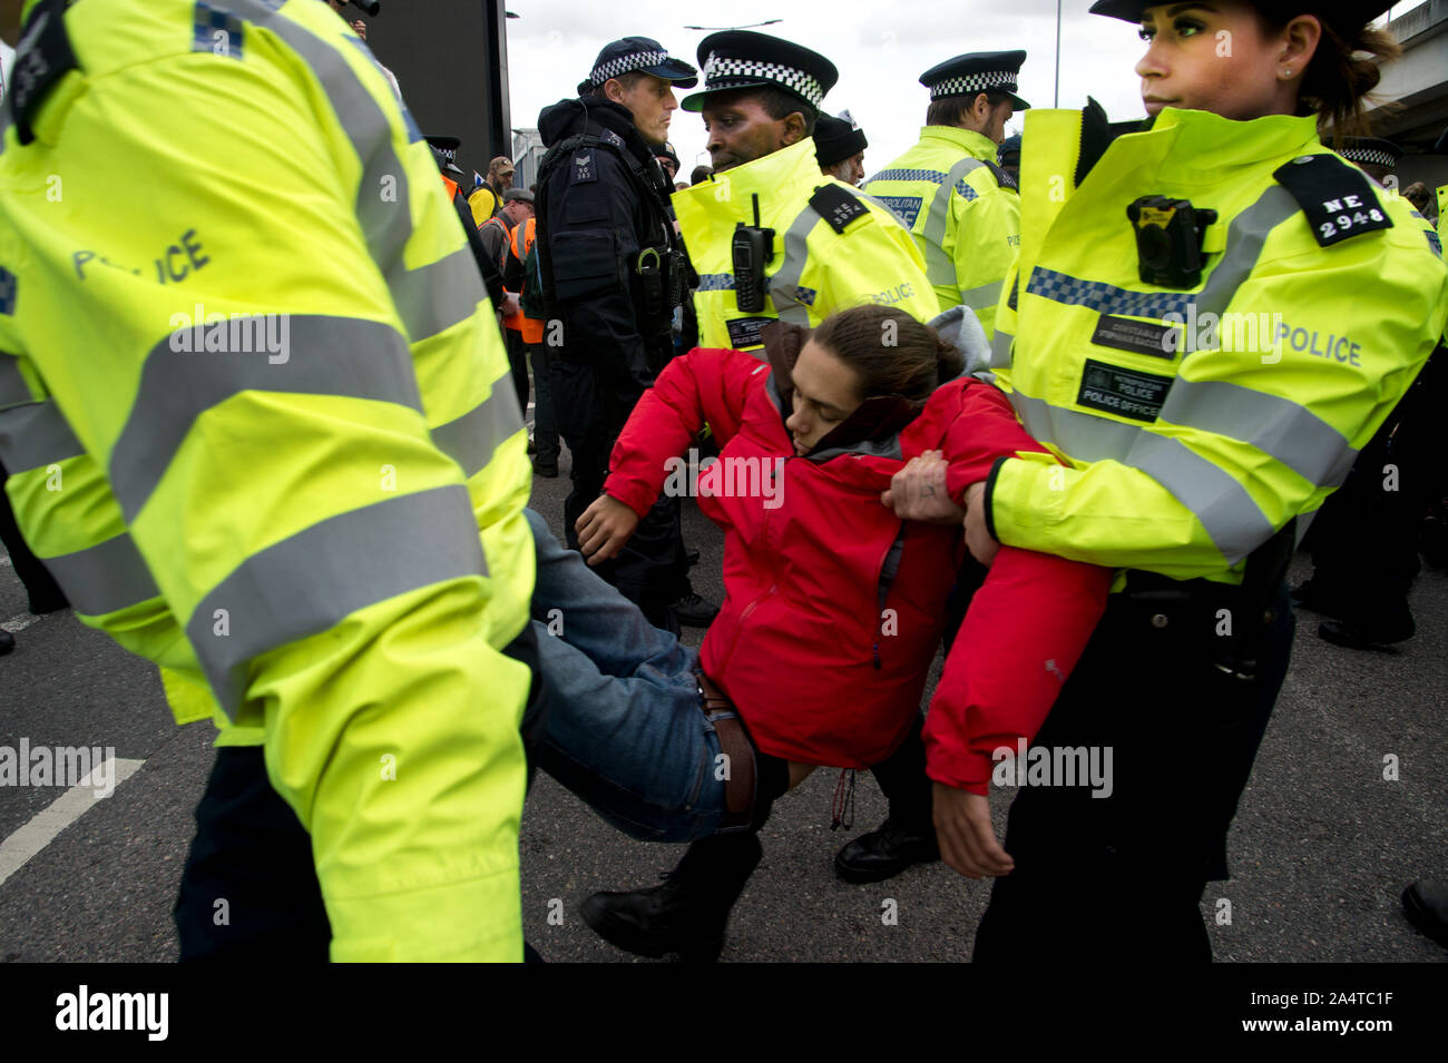
[[[1393,14],[1418,6],[1407,0]],[[1082,107],[1093,95],[1112,120],[1142,117],[1141,80],[1132,68],[1145,45],[1118,19],[1089,14],[1090,0],[1063,0],[1060,106]],[[670,55],[699,65],[696,26],[746,26],[782,19],[756,32],[786,38],[840,69],[824,110],[849,108],[870,142],[864,171],[875,174],[919,136],[930,93],[919,75],[964,52],[1027,51],[1018,94],[1032,107],[1053,106],[1056,91],[1054,0],[508,0],[508,75],[513,126],[537,126],[539,111],[573,95],[598,49],[623,36],[659,40]],[[403,87],[407,91],[407,87]],[[679,90],[682,100],[689,90]],[[1008,133],[1021,132],[1022,116]],[[669,139],[685,174],[708,163],[704,123],[679,108]]]

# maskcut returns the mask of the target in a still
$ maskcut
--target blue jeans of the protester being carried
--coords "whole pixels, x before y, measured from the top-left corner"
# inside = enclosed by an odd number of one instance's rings
[[[714,725],[699,709],[698,654],[524,511],[537,548],[543,771],[647,842],[712,834],[724,814]]]

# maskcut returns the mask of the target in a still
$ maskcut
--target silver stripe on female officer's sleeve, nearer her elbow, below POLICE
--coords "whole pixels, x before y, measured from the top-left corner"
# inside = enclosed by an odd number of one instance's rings
[[[1250,443],[1319,487],[1347,477],[1357,450],[1310,409],[1225,380],[1177,377],[1160,418]]]

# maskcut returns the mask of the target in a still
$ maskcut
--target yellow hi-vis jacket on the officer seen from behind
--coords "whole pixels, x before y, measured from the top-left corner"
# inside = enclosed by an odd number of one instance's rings
[[[995,159],[988,136],[925,126],[919,143],[864,182],[909,226],[940,308],[966,304],[986,338],[995,334],[1001,282],[1021,243],[1019,198],[996,179]]]

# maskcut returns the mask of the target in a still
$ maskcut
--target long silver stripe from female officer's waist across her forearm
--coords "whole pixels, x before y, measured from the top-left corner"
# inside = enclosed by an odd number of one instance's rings
[[[1212,542],[1235,564],[1271,534],[1271,522],[1229,473],[1186,444],[1145,428],[1106,421],[1011,392],[1025,431],[1077,461],[1118,461],[1145,473],[1192,511]]]

